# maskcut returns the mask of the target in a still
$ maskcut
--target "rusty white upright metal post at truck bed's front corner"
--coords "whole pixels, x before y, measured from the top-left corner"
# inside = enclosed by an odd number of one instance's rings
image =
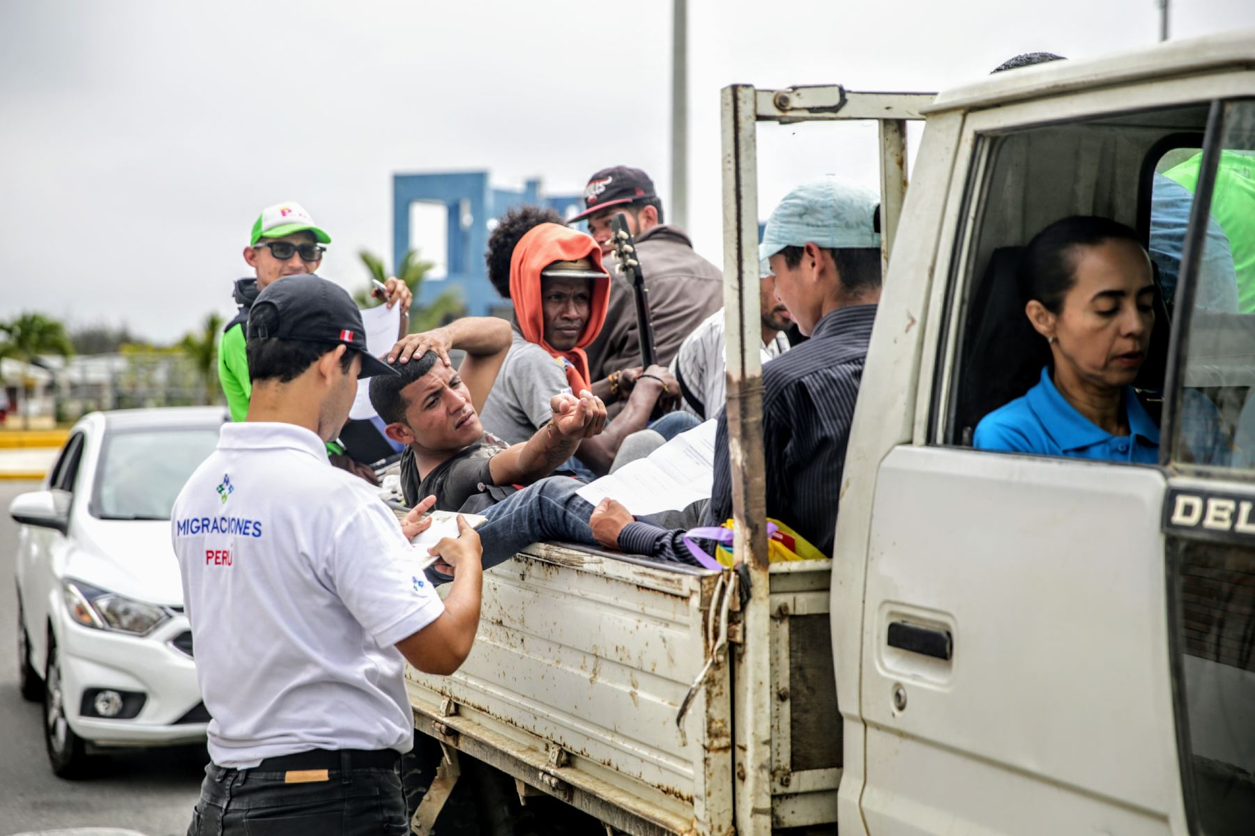
[[[740,582],[740,644],[733,666],[735,823],[738,836],[772,830],[771,640],[767,480],[763,465],[762,311],[758,301],[758,150],[756,91],[723,89],[723,301],[728,365],[728,455],[733,553]]]

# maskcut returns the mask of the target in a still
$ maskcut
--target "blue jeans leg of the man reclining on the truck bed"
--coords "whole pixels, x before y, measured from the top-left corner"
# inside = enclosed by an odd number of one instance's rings
[[[523,546],[540,540],[566,540],[597,545],[589,528],[592,505],[575,495],[584,483],[550,476],[511,494],[487,511],[477,530],[483,545],[483,568],[508,560]]]

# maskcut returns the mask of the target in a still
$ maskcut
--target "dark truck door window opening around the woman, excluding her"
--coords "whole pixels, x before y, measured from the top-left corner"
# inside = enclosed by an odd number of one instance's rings
[[[1206,118],[1207,104],[1199,103],[981,137],[988,153],[981,185],[969,198],[976,202],[971,237],[966,259],[955,264],[959,274],[953,280],[959,303],[953,308],[951,321],[961,330],[954,352],[955,374],[948,386],[943,444],[971,446],[980,420],[1042,382],[1043,370],[1049,370],[1053,385],[1052,348],[1030,323],[1020,287],[1022,257],[1037,233],[1063,218],[1092,216],[1131,228],[1143,247],[1151,243],[1151,249],[1156,246],[1163,251],[1178,249],[1173,241],[1162,241],[1163,234],[1151,241],[1151,227],[1162,218],[1147,211],[1152,184],[1143,174],[1148,160],[1166,157],[1163,149],[1170,138],[1201,137]],[[1176,157],[1163,160],[1165,167],[1186,162],[1191,150],[1175,152]],[[1182,212],[1182,206],[1187,212],[1192,202],[1188,191],[1175,180],[1167,180],[1166,185],[1176,187],[1171,197],[1176,198],[1177,212]],[[1176,234],[1183,241],[1183,229]],[[1165,259],[1153,253],[1152,258],[1157,264],[1152,276],[1153,302],[1148,306],[1153,308],[1153,325],[1132,381],[1140,392],[1137,402],[1146,412],[1140,426],[1152,430],[1151,435],[1157,432],[1153,427],[1162,404],[1171,330],[1160,287],[1167,272],[1161,263]],[[1172,281],[1176,272],[1172,271]],[[1127,419],[1131,425],[1132,415]],[[1093,430],[1098,432],[1097,427]],[[1117,451],[1107,460],[1151,464],[1147,459],[1153,457],[1153,440],[1145,440],[1148,450],[1141,450],[1140,457],[1119,459],[1122,437],[1119,432],[1108,436]],[[1078,455],[1067,449],[1052,454]]]

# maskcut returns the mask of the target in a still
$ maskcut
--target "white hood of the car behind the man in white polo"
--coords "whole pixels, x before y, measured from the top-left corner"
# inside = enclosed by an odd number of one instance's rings
[[[70,528],[65,575],[149,604],[182,607],[183,582],[167,520],[98,520]]]

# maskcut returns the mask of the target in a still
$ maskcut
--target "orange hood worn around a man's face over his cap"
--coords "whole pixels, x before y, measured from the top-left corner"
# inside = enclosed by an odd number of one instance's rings
[[[591,258],[597,269],[601,266],[601,248],[590,236],[557,223],[542,223],[527,231],[510,257],[510,298],[515,302],[515,320],[523,338],[535,342],[555,357],[567,362],[566,380],[571,391],[579,396],[580,390],[591,389],[589,380],[589,357],[584,346],[596,340],[606,321],[606,307],[610,305],[610,276],[592,282],[592,305],[589,308],[589,321],[570,351],[558,351],[545,341],[545,303],[541,298],[541,271],[556,261],[579,261]]]

